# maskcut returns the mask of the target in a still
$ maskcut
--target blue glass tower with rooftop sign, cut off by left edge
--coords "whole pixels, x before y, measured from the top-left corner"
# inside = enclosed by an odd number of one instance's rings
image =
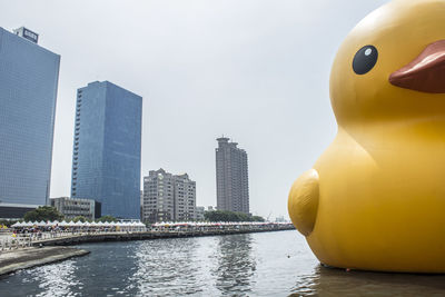
[[[49,204],[60,56],[0,28],[0,218]]]

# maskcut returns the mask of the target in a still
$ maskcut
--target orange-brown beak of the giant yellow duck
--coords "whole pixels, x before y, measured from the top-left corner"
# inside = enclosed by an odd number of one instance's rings
[[[427,46],[416,59],[393,72],[389,82],[416,91],[445,92],[445,40]]]

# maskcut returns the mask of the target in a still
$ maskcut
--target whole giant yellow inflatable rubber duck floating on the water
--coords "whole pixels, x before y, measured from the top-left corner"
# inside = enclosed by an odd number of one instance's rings
[[[395,0],[347,36],[330,73],[333,143],[288,210],[326,265],[445,273],[445,0]]]

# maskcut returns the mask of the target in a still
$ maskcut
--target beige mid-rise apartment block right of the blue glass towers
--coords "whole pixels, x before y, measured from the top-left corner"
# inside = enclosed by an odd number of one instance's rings
[[[196,182],[187,174],[175,176],[161,168],[144,177],[142,220],[191,220],[195,207]]]

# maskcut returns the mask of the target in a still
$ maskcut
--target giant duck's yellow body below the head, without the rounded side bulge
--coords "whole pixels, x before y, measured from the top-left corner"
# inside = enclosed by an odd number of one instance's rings
[[[314,166],[320,195],[307,240],[335,267],[445,273],[445,132],[413,141],[428,125],[394,126],[363,128],[372,139],[338,131]]]

